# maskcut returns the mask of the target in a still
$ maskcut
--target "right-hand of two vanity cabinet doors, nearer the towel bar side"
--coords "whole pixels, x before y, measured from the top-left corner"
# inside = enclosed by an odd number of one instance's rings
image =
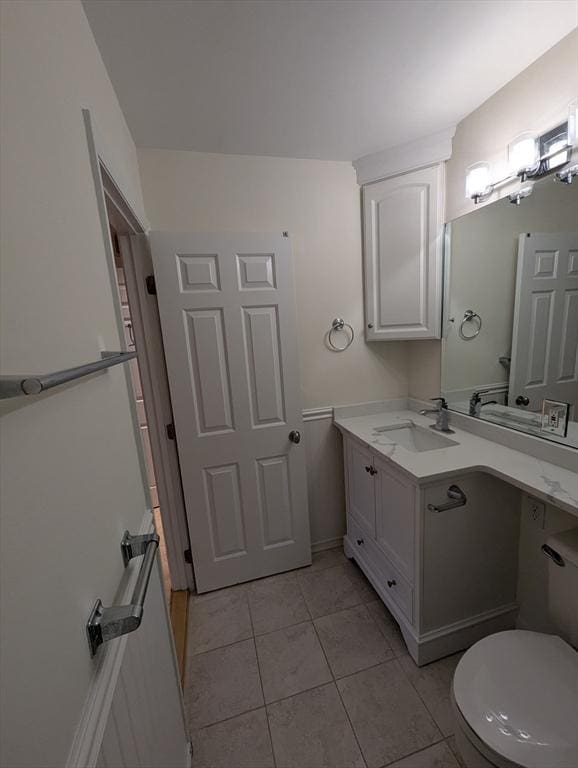
[[[393,565],[413,584],[415,486],[379,459],[376,493],[377,544]]]

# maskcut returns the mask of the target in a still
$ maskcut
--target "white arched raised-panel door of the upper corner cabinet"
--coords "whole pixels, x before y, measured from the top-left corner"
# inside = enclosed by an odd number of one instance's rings
[[[365,338],[439,339],[443,164],[363,187]]]

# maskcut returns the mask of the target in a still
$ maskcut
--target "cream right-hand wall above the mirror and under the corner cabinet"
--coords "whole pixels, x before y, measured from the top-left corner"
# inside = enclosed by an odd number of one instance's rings
[[[567,116],[568,104],[578,93],[577,51],[575,30],[459,123],[452,157],[446,164],[446,221],[475,207],[464,193],[468,166],[481,160],[504,164],[507,145],[517,134],[545,130]],[[500,194],[509,191],[506,186]],[[439,341],[410,347],[412,397],[439,393],[440,348]]]

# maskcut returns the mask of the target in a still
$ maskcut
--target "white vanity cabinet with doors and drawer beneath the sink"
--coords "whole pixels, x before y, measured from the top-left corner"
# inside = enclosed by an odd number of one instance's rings
[[[520,492],[468,472],[417,484],[379,451],[344,436],[345,553],[398,621],[417,664],[514,626]],[[443,512],[458,485],[466,503]]]

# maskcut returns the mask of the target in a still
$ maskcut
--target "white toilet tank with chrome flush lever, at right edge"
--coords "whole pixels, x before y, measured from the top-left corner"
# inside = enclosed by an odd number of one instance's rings
[[[578,648],[578,528],[550,536],[542,551],[550,558],[550,616],[560,636]]]

